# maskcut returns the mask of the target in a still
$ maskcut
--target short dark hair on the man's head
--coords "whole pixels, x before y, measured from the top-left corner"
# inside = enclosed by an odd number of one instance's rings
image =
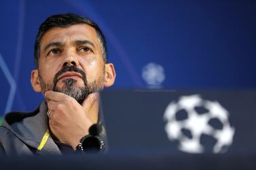
[[[39,66],[40,46],[41,46],[41,39],[43,35],[48,30],[50,30],[50,28],[54,28],[54,27],[66,28],[75,24],[88,24],[89,26],[92,26],[92,28],[96,30],[98,39],[100,41],[100,49],[101,49],[101,53],[103,54],[103,60],[105,63],[107,63],[107,42],[98,25],[92,20],[90,20],[89,18],[86,18],[84,16],[78,16],[77,14],[68,13],[68,14],[57,14],[57,15],[50,16],[39,27],[37,37],[35,38],[35,47],[34,47],[35,66],[37,68]]]

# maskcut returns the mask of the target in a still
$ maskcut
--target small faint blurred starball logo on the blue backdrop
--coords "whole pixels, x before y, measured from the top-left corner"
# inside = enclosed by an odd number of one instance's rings
[[[159,87],[165,79],[164,68],[160,64],[150,62],[142,68],[142,78],[147,85]]]

